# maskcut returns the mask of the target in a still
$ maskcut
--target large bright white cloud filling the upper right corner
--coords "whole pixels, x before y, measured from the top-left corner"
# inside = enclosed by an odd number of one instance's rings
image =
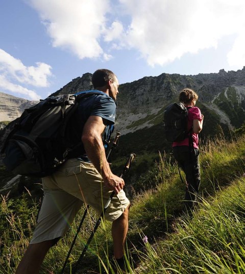
[[[120,0],[120,3],[132,17],[124,42],[138,49],[152,66],[172,62],[187,52],[217,47],[220,38],[244,32],[242,0]]]

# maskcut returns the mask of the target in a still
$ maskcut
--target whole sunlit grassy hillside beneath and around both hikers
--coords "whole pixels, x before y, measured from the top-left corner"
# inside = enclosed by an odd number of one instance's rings
[[[231,141],[220,136],[201,147],[200,198],[189,216],[184,210],[185,186],[178,169],[162,153],[157,166],[140,179],[142,192],[131,199],[127,255],[129,263],[133,258],[136,265],[130,267],[129,273],[244,272],[244,156],[244,135]],[[151,189],[144,188],[147,181]],[[35,226],[38,203],[28,207],[25,196],[17,201],[2,197],[0,273],[6,273],[6,269],[7,273],[14,273]],[[82,214],[83,209],[66,237],[48,253],[41,273],[61,271]],[[96,218],[90,211],[66,273],[79,258]],[[108,269],[113,273],[107,260],[112,254],[110,227],[105,222],[97,230],[80,273],[109,273]],[[143,242],[145,235],[148,242]]]

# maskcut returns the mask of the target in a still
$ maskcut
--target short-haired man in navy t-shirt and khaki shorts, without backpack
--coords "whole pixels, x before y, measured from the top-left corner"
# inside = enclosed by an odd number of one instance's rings
[[[82,146],[78,155],[42,178],[44,198],[37,225],[16,274],[39,273],[47,251],[64,236],[83,203],[101,214],[112,191],[115,195],[105,218],[112,222],[114,258],[119,266],[123,262],[130,202],[122,189],[124,180],[111,172],[102,140],[115,122],[119,84],[116,75],[107,69],[96,70],[92,84],[101,93],[81,100],[72,121]]]

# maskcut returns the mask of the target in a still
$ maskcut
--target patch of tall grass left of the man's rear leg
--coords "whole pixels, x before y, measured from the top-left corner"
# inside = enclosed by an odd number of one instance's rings
[[[35,226],[37,204],[29,208],[27,199],[9,200],[2,196],[0,204],[0,273],[13,273],[23,250],[26,250]]]

